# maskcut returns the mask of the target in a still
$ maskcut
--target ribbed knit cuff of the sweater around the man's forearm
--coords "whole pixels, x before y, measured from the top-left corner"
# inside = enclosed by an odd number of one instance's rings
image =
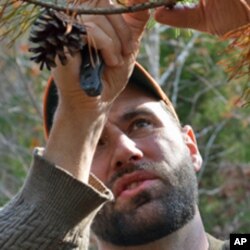
[[[68,172],[45,160],[36,150],[29,177],[21,192],[24,202],[33,204],[56,223],[77,224],[105,201],[112,193],[95,177],[91,184],[82,183]]]

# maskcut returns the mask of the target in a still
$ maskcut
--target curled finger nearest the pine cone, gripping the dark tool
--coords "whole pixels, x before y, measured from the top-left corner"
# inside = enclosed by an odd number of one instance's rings
[[[117,43],[119,43],[117,38],[112,39],[110,34],[107,34],[96,23],[85,22],[84,24],[88,33],[88,44],[101,51],[105,64],[108,66],[117,66],[122,64],[123,58],[121,56],[121,52],[117,50]]]

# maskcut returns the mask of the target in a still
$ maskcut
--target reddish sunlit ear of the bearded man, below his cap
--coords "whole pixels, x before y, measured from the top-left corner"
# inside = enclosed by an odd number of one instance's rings
[[[189,149],[195,171],[198,172],[202,165],[202,157],[198,149],[194,131],[191,126],[186,125],[182,128],[182,133],[184,142]]]

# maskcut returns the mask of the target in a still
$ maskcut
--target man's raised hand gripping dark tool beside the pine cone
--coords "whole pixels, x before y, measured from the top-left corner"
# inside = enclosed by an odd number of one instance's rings
[[[145,0],[129,0],[128,4],[145,2]],[[84,1],[88,7],[113,8],[108,0]],[[139,43],[146,22],[149,18],[148,11],[141,11],[123,15],[82,15],[79,19],[87,29],[88,45],[101,52],[105,62],[103,74],[103,92],[101,100],[112,101],[125,87],[128,77],[133,69],[139,50]],[[68,58],[66,66],[60,65],[53,70],[53,77],[60,91],[62,101],[73,101],[80,105],[93,103],[93,98],[88,98],[79,87],[81,57]],[[100,101],[100,100],[99,100]],[[87,102],[87,103],[86,103]],[[100,105],[100,103],[98,103]]]

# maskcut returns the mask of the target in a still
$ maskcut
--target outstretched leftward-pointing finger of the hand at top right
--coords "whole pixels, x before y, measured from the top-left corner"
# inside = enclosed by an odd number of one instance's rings
[[[174,9],[157,8],[154,14],[157,22],[178,28],[190,28],[207,31],[205,17],[199,5],[176,6]]]

